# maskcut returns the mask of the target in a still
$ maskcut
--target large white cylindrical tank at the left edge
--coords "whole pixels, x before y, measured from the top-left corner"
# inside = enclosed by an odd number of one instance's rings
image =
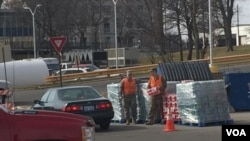
[[[16,60],[0,63],[0,80],[5,80],[6,76],[13,87],[22,88],[45,84],[49,71],[43,60]]]

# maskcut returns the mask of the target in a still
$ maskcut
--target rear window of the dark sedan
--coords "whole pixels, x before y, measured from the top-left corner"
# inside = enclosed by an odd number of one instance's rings
[[[62,101],[76,101],[95,99],[102,96],[91,87],[82,87],[58,90],[58,97]]]

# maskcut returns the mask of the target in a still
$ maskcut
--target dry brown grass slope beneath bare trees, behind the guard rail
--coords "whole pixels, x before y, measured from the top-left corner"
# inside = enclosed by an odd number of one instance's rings
[[[183,51],[184,61],[187,61],[187,54],[188,54],[187,51]],[[234,51],[232,51],[232,52],[227,52],[227,47],[216,47],[216,48],[213,48],[213,50],[212,50],[212,56],[214,58],[223,57],[223,56],[242,55],[242,54],[250,54],[250,45],[234,46]],[[193,50],[193,60],[195,60],[195,55],[196,55],[196,51]],[[206,58],[210,57],[210,48],[207,49],[207,53],[205,56],[206,56]],[[156,63],[161,61],[159,56],[154,55],[154,57],[155,57]],[[180,53],[179,52],[176,52],[173,54],[173,60],[175,62],[180,61]],[[141,65],[151,64],[151,61],[150,61],[149,57],[144,56],[144,57],[140,58],[140,64]]]

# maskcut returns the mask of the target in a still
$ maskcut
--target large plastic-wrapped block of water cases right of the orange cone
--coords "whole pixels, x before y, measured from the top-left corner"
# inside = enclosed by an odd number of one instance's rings
[[[183,124],[205,125],[230,120],[224,80],[180,83],[176,86],[176,96]]]

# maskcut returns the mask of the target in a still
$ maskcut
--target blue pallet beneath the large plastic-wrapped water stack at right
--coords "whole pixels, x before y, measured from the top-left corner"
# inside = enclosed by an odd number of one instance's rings
[[[196,126],[196,127],[205,127],[205,126],[218,126],[218,125],[231,125],[233,124],[233,120],[224,120],[224,121],[214,121],[214,122],[198,122],[198,123],[191,123],[191,122],[181,122],[181,125],[187,126]]]

